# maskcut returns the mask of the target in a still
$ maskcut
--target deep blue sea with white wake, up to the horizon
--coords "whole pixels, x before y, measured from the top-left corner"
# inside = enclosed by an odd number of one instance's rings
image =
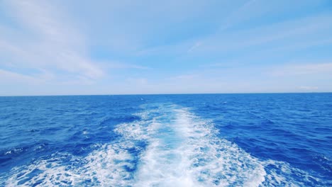
[[[332,94],[0,97],[0,186],[332,186]]]

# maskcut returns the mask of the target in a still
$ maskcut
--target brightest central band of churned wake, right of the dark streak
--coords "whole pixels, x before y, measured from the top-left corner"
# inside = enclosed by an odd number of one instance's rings
[[[118,127],[124,137],[148,142],[135,186],[258,186],[265,180],[257,159],[218,139],[209,123],[186,108],[164,106],[158,113],[150,125]]]

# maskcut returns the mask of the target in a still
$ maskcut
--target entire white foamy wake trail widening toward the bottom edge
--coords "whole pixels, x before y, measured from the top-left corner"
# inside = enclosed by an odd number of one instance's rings
[[[120,139],[86,157],[52,154],[12,169],[1,186],[304,186],[316,179],[284,162],[262,161],[217,137],[214,125],[170,104],[143,106]],[[1,179],[4,181],[4,179]]]

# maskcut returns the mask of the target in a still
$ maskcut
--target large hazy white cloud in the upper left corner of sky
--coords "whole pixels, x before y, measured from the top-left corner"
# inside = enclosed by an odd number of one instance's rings
[[[14,32],[0,38],[0,47],[8,54],[4,65],[62,70],[73,75],[98,79],[103,69],[87,55],[84,34],[76,30],[65,13],[49,1],[6,1],[11,17],[24,29],[22,37]],[[66,16],[65,16],[66,15]]]

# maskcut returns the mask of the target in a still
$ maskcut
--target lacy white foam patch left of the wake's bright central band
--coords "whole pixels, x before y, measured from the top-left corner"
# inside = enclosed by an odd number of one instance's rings
[[[129,142],[103,145],[87,157],[53,154],[31,165],[11,170],[6,186],[123,186],[131,181],[135,167],[133,155],[126,149]],[[67,163],[70,164],[67,164]],[[88,186],[89,186],[88,185]]]

